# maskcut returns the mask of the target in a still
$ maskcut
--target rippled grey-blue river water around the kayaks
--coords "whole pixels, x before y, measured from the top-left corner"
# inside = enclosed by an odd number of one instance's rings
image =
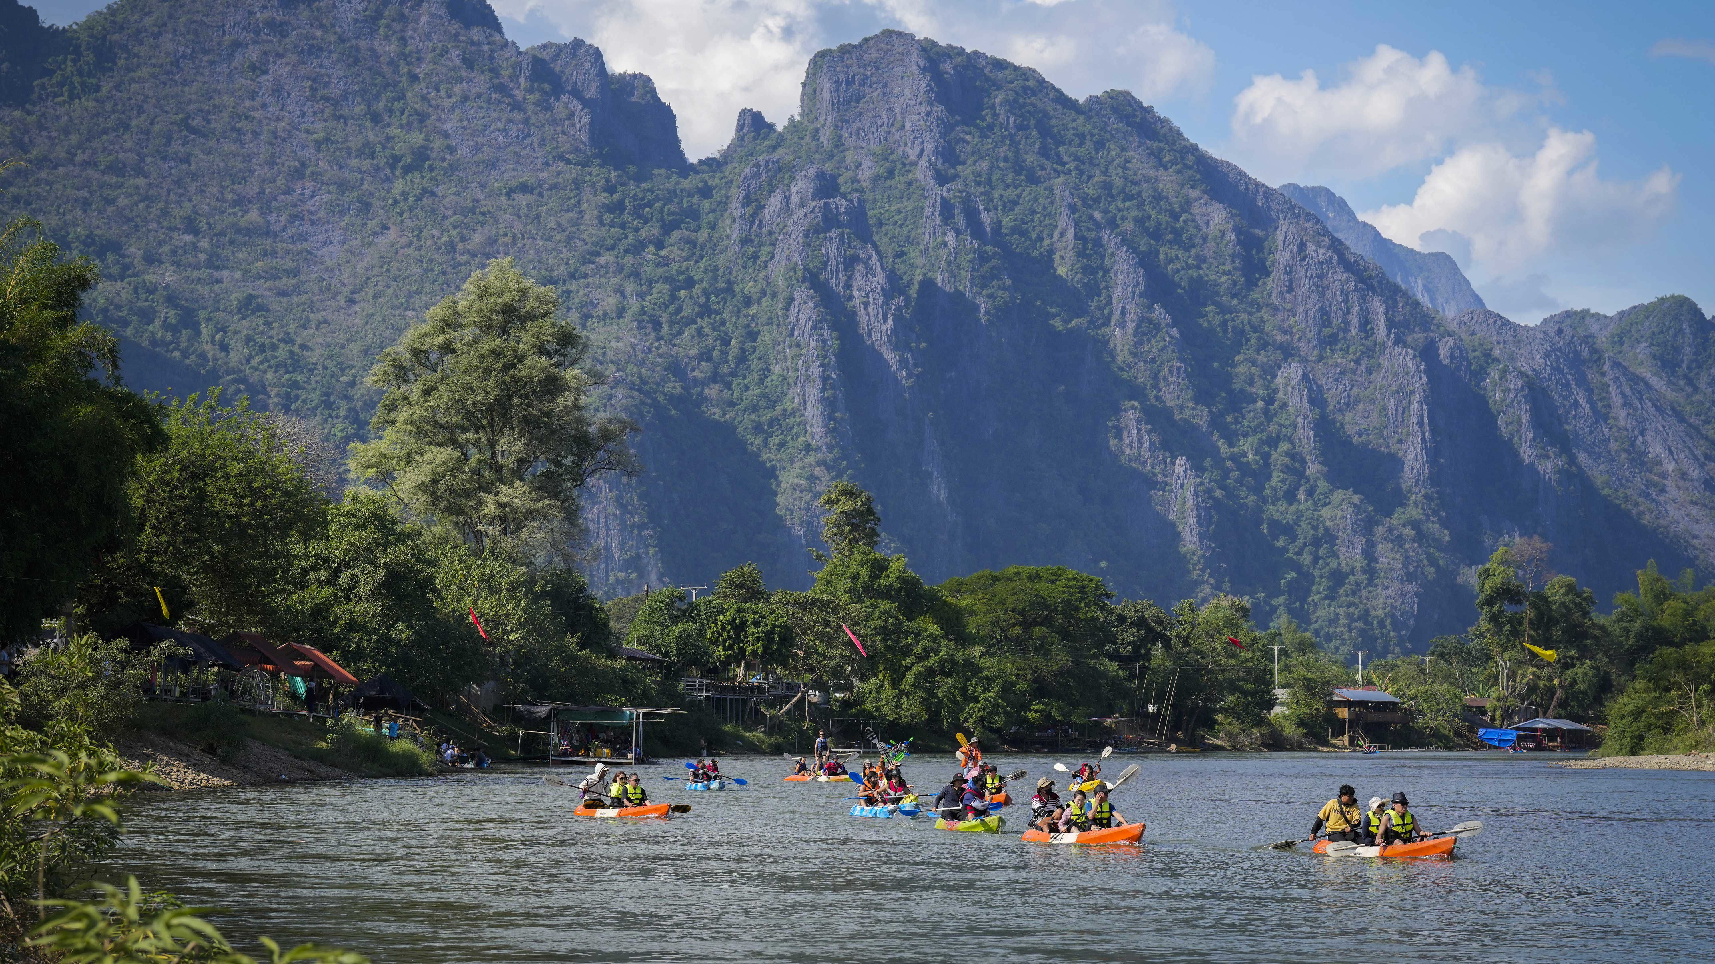
[[[1034,787],[1070,756],[998,756]],[[1140,847],[947,834],[849,816],[851,784],[688,792],[672,820],[569,815],[540,768],[149,794],[115,873],[221,907],[254,947],[377,962],[513,961],[1710,961],[1715,774],[1561,770],[1547,755],[1113,756]],[[923,791],[950,756],[911,758]],[[556,770],[578,777],[583,770]],[[1063,774],[1058,786],[1065,786]],[[1303,837],[1341,782],[1406,791],[1429,828],[1482,820],[1451,861],[1259,849]],[[933,791],[930,791],[933,792]],[[1026,791],[1019,796],[1027,796]],[[110,878],[113,873],[108,875]]]

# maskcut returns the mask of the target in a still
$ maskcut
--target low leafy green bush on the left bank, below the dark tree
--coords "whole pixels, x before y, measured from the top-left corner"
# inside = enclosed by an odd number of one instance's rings
[[[110,738],[130,724],[142,705],[149,669],[172,652],[163,643],[134,654],[125,640],[101,640],[94,633],[74,636],[63,647],[38,647],[19,669],[21,719],[34,729]]]

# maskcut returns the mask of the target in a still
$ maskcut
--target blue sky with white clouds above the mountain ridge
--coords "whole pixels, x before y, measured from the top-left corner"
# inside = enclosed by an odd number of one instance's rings
[[[899,27],[1137,93],[1269,184],[1326,184],[1533,322],[1665,293],[1715,310],[1715,3],[492,0],[655,77],[686,153],[784,120],[823,46]],[[72,22],[91,0],[46,0]],[[1314,79],[1305,75],[1314,72]]]

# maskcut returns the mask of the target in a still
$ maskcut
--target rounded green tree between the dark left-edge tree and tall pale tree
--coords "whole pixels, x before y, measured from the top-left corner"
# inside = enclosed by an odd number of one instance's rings
[[[220,396],[159,408],[166,446],[137,458],[129,485],[135,537],[81,602],[96,628],[166,621],[151,588],[161,585],[173,621],[196,616],[216,635],[285,630],[293,547],[322,530],[328,501],[271,419]]]

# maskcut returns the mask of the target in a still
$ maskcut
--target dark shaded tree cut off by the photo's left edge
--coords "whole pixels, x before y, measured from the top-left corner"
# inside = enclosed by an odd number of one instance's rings
[[[118,340],[79,321],[96,283],[17,218],[0,230],[0,642],[34,636],[130,523],[125,482],[163,434],[118,381]]]

